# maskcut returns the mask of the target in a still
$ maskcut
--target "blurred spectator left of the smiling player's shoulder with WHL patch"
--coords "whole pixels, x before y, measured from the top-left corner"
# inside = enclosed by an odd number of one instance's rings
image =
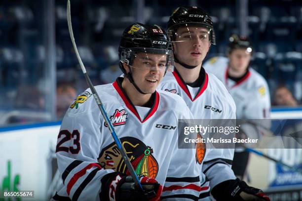
[[[76,98],[76,88],[72,83],[63,82],[57,86],[57,119],[62,119],[68,107]]]

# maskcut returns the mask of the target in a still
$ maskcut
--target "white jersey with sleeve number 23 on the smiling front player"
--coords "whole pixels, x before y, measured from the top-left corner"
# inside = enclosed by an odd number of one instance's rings
[[[151,108],[134,106],[122,80],[95,88],[137,174],[155,178],[163,187],[162,199],[197,198],[201,188],[195,149],[178,149],[177,143],[178,119],[193,118],[186,103],[158,90]],[[53,200],[100,200],[101,178],[113,171],[127,173],[91,96],[90,89],[79,95],[62,121],[56,155],[63,183]]]

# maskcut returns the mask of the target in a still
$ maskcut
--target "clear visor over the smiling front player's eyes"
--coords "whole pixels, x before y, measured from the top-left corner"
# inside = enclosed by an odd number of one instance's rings
[[[156,48],[131,48],[133,59],[132,68],[173,72],[174,58],[171,50]]]

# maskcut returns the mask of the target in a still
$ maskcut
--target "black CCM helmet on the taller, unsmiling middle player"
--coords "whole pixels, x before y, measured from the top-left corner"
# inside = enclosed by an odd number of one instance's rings
[[[175,40],[175,33],[179,27],[197,26],[209,30],[209,40],[216,44],[212,18],[202,8],[197,6],[182,6],[174,10],[168,21],[168,33],[171,40]]]

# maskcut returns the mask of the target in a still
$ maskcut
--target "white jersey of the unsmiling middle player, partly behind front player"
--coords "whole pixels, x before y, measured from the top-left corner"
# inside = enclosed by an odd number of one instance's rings
[[[204,71],[203,68],[201,68]],[[226,87],[214,75],[204,72],[201,87],[191,87],[181,78],[176,69],[167,73],[158,88],[179,94],[189,106],[194,119],[236,119],[235,103]],[[200,163],[202,192],[200,200],[210,200],[210,186],[235,179],[231,169],[234,149],[206,149]]]

